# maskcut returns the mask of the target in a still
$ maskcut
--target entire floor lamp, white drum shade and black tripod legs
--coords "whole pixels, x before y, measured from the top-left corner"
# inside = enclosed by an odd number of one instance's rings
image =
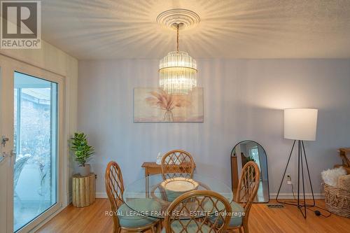
[[[292,139],[294,142],[292,149],[290,150],[286,169],[284,169],[283,172],[281,185],[279,185],[279,191],[281,190],[284,177],[286,176],[290,157],[292,156],[293,150],[296,147],[295,144],[297,144],[297,203],[279,201],[279,192],[277,192],[276,201],[283,204],[297,206],[304,218],[307,218],[307,206],[315,206],[314,190],[312,190],[304,141],[316,140],[317,113],[318,110],[314,108],[288,108],[284,110],[284,138]],[[313,204],[307,204],[305,202],[304,166],[307,169],[307,178],[309,178]],[[302,187],[300,187],[301,185]],[[302,196],[300,197],[300,195]]]

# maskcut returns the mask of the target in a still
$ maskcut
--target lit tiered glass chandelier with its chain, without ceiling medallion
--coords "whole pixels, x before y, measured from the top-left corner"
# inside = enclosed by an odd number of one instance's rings
[[[188,94],[197,87],[197,62],[179,50],[179,25],[175,25],[176,51],[169,52],[159,63],[159,85],[169,94]]]

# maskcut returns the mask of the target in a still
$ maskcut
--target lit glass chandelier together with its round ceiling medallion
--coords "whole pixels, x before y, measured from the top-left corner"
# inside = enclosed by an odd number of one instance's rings
[[[167,10],[157,21],[176,29],[176,51],[169,52],[159,63],[159,84],[169,94],[188,94],[197,87],[197,62],[188,52],[179,50],[179,30],[200,22],[190,10]]]

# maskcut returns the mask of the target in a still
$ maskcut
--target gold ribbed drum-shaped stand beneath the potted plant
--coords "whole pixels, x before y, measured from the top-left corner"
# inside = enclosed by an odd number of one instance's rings
[[[96,198],[95,176],[90,173],[89,176],[72,176],[73,206],[84,207],[94,203]]]

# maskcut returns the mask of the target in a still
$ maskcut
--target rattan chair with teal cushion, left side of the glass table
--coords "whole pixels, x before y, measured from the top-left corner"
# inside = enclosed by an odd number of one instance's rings
[[[130,216],[132,210],[123,202],[123,176],[119,165],[116,162],[109,162],[106,167],[105,174],[106,192],[111,203],[111,211],[113,211],[113,232],[120,233],[121,230],[128,232],[158,232],[159,220],[148,218],[146,216]],[[144,204],[143,199],[135,199],[137,204]]]

